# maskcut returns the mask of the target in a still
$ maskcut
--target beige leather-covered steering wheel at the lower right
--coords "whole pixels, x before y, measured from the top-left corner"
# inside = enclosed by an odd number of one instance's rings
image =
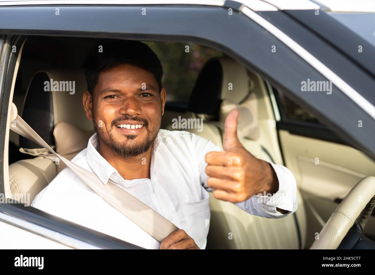
[[[365,208],[374,195],[375,177],[362,178],[332,213],[310,249],[337,249],[360,214],[365,215],[362,219],[364,227],[372,211],[365,211]],[[374,201],[368,207],[374,208]]]

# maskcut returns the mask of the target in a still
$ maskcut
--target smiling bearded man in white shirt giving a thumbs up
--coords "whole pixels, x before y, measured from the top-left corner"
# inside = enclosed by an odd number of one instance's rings
[[[225,121],[224,151],[185,131],[160,129],[166,91],[159,59],[141,42],[96,46],[86,62],[86,116],[96,134],[72,161],[103,184],[123,188],[179,230],[161,244],[111,207],[69,168],[32,206],[145,248],[205,248],[207,191],[249,214],[285,217],[297,209],[296,181],[284,166],[255,158],[237,137],[238,110]],[[101,48],[101,47],[99,47]],[[273,194],[266,202],[257,194]]]

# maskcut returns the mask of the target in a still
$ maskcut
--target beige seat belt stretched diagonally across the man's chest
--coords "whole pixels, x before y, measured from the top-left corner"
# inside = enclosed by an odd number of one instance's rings
[[[81,180],[94,190],[102,199],[107,201],[125,217],[141,227],[154,239],[162,242],[170,233],[178,229],[171,221],[139,201],[135,196],[108,181],[104,185],[99,177],[81,166],[58,155],[18,114],[17,107],[12,103],[10,129],[19,135],[39,144],[57,158],[61,159]]]

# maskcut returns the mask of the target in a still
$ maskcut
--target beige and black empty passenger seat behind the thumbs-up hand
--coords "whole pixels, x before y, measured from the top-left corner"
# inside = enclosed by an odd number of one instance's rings
[[[203,118],[203,131],[193,132],[222,148],[223,122],[230,106],[240,110],[238,135],[257,158],[283,164],[275,118],[266,84],[231,58],[210,59],[202,68],[184,118]],[[246,110],[248,108],[248,110]],[[255,113],[257,112],[257,113]],[[242,127],[251,124],[249,129]],[[173,129],[169,123],[166,129]],[[298,209],[282,219],[249,215],[210,193],[211,221],[207,248],[298,249],[305,248],[306,214],[297,188]]]

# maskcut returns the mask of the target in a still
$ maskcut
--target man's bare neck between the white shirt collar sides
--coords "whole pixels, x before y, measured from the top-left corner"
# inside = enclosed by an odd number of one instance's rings
[[[113,152],[111,147],[105,144],[102,140],[100,140],[99,144],[99,154],[117,170],[124,180],[151,178],[150,165],[152,146],[150,146],[147,152],[141,155],[123,158],[121,155]]]

